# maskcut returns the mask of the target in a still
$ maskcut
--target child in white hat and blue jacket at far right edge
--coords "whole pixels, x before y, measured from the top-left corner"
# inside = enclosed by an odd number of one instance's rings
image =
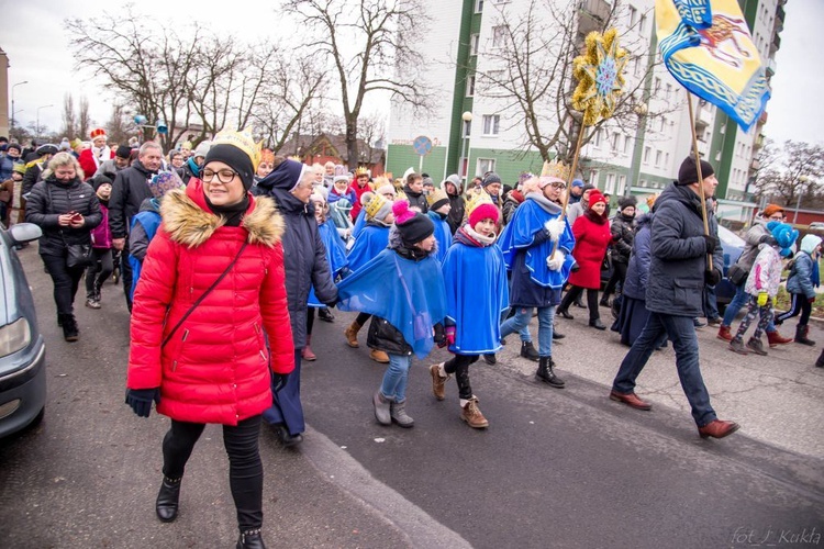
[[[819,272],[819,257],[821,256],[821,237],[806,235],[801,239],[801,246],[795,259],[792,261],[790,278],[787,279],[787,291],[792,296],[790,310],[776,316],[776,326],[789,321],[801,313],[799,324],[795,326],[795,343],[802,345],[815,345],[810,339],[810,313],[815,302],[815,288],[821,284]]]

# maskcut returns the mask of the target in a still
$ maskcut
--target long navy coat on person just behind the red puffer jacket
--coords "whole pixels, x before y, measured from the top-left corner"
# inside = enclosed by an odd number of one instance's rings
[[[271,197],[286,222],[281,240],[286,295],[294,348],[302,349],[307,345],[309,290],[314,287],[314,293],[321,303],[337,301],[337,287],[332,282],[326,247],[318,233],[314,205],[304,204],[283,189],[267,187],[265,179],[258,183],[257,193]]]

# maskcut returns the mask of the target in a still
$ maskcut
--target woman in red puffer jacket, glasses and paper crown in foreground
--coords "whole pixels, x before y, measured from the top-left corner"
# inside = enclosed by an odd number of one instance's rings
[[[134,293],[126,392],[138,416],[148,417],[154,401],[171,418],[156,503],[163,522],[177,517],[183,469],[204,425],[223,425],[238,548],[264,547],[260,418],[271,380],[282,384],[294,368],[283,223],[270,199],[248,192],[256,156],[250,135],[219,134],[202,181],[164,197]]]

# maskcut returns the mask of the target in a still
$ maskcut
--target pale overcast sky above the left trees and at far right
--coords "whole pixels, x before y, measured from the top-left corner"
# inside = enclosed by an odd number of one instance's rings
[[[457,1],[457,0],[454,0]],[[109,119],[109,98],[89,75],[75,70],[75,60],[64,30],[66,18],[94,18],[109,11],[116,13],[126,2],[120,0],[0,0],[3,32],[0,47],[10,60],[9,86],[27,80],[14,92],[18,121],[27,126],[40,109],[42,124],[55,130],[62,125],[64,96],[71,92],[75,101],[89,98],[92,120],[100,124]],[[270,3],[260,0],[220,2],[168,2],[141,0],[136,12],[151,12],[163,20],[202,21],[254,43],[256,37],[278,32],[294,32],[282,24]],[[824,61],[821,58],[821,23],[824,0],[790,0],[787,5],[781,49],[776,55],[777,71],[772,77],[772,99],[767,104],[769,122],[765,128],[776,142],[805,141],[824,145],[824,108],[817,93],[824,89]],[[437,16],[436,13],[431,14]],[[282,36],[288,40],[287,36]],[[10,94],[11,99],[11,94]],[[54,107],[43,107],[53,104]],[[10,112],[11,114],[11,112]]]

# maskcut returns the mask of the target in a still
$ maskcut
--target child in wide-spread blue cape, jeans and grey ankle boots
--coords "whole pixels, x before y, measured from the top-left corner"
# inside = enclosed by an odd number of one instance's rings
[[[423,358],[435,343],[446,345],[446,292],[435,258],[435,226],[405,201],[392,205],[389,248],[338,284],[339,309],[371,315],[367,345],[389,356],[389,367],[372,396],[375,417],[412,427],[407,414],[407,382],[412,355]]]

